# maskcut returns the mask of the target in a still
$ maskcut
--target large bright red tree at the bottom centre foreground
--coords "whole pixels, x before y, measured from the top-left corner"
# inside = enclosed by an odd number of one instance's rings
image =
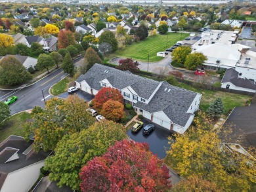
[[[167,191],[169,170],[148,144],[123,140],[81,168],[81,191]]]

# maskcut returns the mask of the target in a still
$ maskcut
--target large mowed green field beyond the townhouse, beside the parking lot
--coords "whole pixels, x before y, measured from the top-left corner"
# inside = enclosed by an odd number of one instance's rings
[[[163,57],[156,56],[157,52],[170,48],[177,41],[188,37],[188,35],[189,33],[167,33],[166,35],[149,36],[143,41],[127,45],[125,50],[117,50],[115,54],[145,62],[148,61],[149,54],[149,61],[157,62],[163,59]]]

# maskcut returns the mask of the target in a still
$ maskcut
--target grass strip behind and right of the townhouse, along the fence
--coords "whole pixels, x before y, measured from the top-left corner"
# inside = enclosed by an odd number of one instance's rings
[[[176,86],[201,93],[202,100],[200,102],[200,109],[203,111],[207,110],[211,102],[216,98],[221,98],[223,101],[224,113],[228,113],[228,111],[232,110],[234,107],[245,106],[247,100],[250,98],[249,96],[242,94],[195,88],[194,86],[186,85],[184,83],[179,83]]]

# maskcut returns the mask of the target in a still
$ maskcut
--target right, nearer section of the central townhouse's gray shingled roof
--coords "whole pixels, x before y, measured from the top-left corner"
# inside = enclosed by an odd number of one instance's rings
[[[169,91],[168,91],[169,90]],[[191,113],[186,113],[197,93],[163,82],[148,104],[137,102],[139,107],[150,113],[163,111],[173,123],[185,126]]]

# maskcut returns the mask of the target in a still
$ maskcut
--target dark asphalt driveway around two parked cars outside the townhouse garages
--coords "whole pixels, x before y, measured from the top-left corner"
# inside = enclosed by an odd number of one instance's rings
[[[144,126],[152,123],[145,118],[142,119],[142,122],[144,123]],[[142,134],[142,128],[137,133],[133,133],[131,132],[131,129],[129,129],[127,135],[135,142],[146,142],[150,146],[150,151],[152,151],[154,155],[158,155],[160,159],[163,159],[167,155],[166,150],[169,150],[170,148],[168,137],[171,136],[171,131],[156,125],[155,123],[152,124],[154,124],[156,128],[148,136]]]

